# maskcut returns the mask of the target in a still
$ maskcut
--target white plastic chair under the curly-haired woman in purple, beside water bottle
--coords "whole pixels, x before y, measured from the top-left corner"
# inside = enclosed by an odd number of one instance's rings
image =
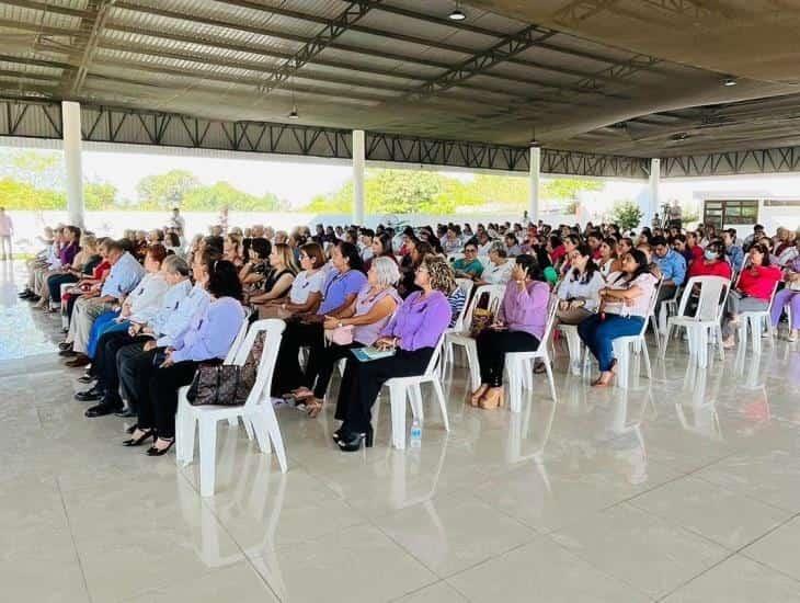
[[[445,431],[450,431],[450,422],[447,418],[447,401],[445,392],[442,389],[436,364],[442,355],[444,346],[444,335],[436,343],[431,361],[422,375],[414,377],[393,377],[388,379],[384,385],[389,388],[389,400],[391,402],[391,443],[398,450],[405,448],[405,398],[407,394],[411,401],[411,413],[415,419],[422,422],[424,412],[422,409],[422,389],[420,386],[424,383],[433,385],[433,390],[438,399],[442,419],[445,424]]]

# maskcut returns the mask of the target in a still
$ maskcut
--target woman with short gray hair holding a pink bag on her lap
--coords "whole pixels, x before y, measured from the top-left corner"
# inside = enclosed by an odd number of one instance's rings
[[[290,399],[305,403],[309,417],[317,417],[322,410],[322,399],[336,363],[350,357],[352,349],[375,343],[380,330],[402,303],[395,288],[399,280],[400,271],[396,262],[385,257],[373,259],[367,284],[358,292],[350,308],[340,318],[325,317],[325,337],[331,343],[321,349],[319,354],[311,349],[305,387],[290,395]]]

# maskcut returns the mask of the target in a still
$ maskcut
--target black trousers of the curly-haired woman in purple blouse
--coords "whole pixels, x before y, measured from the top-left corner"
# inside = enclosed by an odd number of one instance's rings
[[[433,348],[421,348],[414,352],[398,350],[393,356],[358,362],[347,360],[336,400],[336,419],[343,421],[342,429],[350,433],[367,433],[372,426],[372,410],[381,386],[392,377],[413,377],[427,368]]]

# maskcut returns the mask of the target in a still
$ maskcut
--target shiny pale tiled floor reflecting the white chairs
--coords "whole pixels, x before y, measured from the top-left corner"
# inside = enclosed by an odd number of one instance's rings
[[[707,371],[673,342],[652,383],[595,391],[557,360],[516,416],[431,407],[421,450],[353,455],[332,413],[278,410],[282,475],[220,428],[217,496],[196,467],[88,420],[58,320],[0,272],[0,591],[31,602],[800,601],[800,350]],[[386,403],[386,400],[384,400]]]

